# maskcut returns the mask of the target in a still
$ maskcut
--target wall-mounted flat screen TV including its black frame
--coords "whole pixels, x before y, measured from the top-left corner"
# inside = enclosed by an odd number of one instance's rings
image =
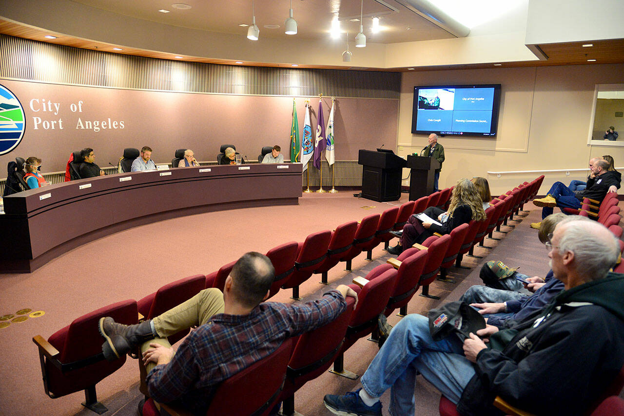
[[[412,133],[496,136],[500,84],[414,87]]]

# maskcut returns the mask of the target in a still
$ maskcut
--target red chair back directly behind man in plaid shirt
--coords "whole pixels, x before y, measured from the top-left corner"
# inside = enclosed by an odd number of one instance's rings
[[[286,339],[269,356],[223,381],[206,415],[268,415],[280,397],[292,351],[293,339]],[[241,392],[245,392],[244,400]]]

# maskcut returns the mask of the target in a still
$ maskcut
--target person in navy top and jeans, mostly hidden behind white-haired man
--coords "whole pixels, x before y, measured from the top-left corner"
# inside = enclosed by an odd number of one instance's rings
[[[575,215],[578,220],[587,220],[587,217]],[[559,212],[558,214],[548,215],[542,221],[538,236],[540,242],[548,243],[552,238],[552,232],[557,224],[568,215]],[[557,296],[563,290],[563,283],[553,277],[553,271],[550,270],[545,278],[539,276],[529,277],[519,272],[507,270],[504,279],[495,279],[491,273],[492,268],[497,271],[505,271],[506,267],[500,267],[502,263],[494,263],[490,268],[490,262],[487,262],[481,273],[481,278],[486,286],[474,285],[459,298],[470,306],[477,308],[480,314],[487,318],[487,323],[497,326],[498,328],[510,328],[514,321],[521,321],[534,311],[543,308],[552,298]],[[503,265],[504,266],[504,265]],[[487,268],[487,270],[484,270]],[[484,273],[485,272],[485,273]],[[511,273],[509,273],[511,272]],[[487,278],[486,278],[487,277]],[[518,278],[527,283],[520,283]],[[534,292],[532,295],[522,293],[528,289]]]

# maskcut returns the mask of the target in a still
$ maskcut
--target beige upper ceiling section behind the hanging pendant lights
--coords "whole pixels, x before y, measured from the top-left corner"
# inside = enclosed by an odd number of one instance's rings
[[[247,28],[239,24],[251,24],[251,0],[182,0],[190,9],[172,6],[175,0],[74,0],[86,6],[122,14],[137,19],[154,21],[172,26],[187,27],[210,32],[245,35]],[[254,0],[256,24],[261,37],[286,37],[284,21],[288,18],[290,0]],[[341,39],[353,39],[359,32],[359,21],[349,19],[360,15],[358,0],[292,0],[293,17],[298,23],[302,39],[331,40],[333,19],[340,21]],[[158,12],[159,9],[168,13]],[[391,44],[417,40],[449,39],[454,37],[415,12],[394,0],[364,0],[363,26],[367,42]],[[380,17],[383,30],[371,31],[372,17]],[[277,25],[267,29],[265,25]],[[409,28],[409,29],[407,29]]]

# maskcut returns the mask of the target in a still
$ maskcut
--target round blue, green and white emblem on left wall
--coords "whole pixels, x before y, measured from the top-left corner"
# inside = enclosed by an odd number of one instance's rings
[[[17,97],[0,85],[0,155],[17,147],[24,136],[26,117]]]

